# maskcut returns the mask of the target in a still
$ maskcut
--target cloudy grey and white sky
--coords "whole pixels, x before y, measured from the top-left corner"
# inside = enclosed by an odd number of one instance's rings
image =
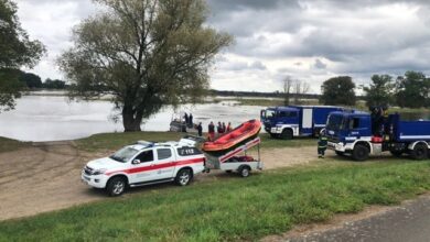
[[[90,0],[15,0],[22,26],[47,55],[32,70],[63,79],[56,57],[72,28],[96,12]],[[341,75],[357,86],[374,74],[430,74],[427,0],[207,0],[207,24],[235,37],[209,70],[218,90],[276,91],[282,79],[310,84]]]

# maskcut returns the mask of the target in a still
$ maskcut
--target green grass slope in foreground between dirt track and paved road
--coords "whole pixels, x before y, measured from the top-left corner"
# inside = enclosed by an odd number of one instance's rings
[[[141,188],[122,198],[3,221],[0,241],[257,240],[430,189],[428,161],[324,163],[246,179]]]

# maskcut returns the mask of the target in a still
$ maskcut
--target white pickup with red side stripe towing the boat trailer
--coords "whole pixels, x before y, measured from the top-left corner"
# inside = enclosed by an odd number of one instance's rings
[[[140,141],[109,157],[94,160],[82,170],[82,179],[110,196],[121,195],[127,187],[175,182],[186,186],[194,175],[205,169],[205,156],[194,146],[180,142]]]

